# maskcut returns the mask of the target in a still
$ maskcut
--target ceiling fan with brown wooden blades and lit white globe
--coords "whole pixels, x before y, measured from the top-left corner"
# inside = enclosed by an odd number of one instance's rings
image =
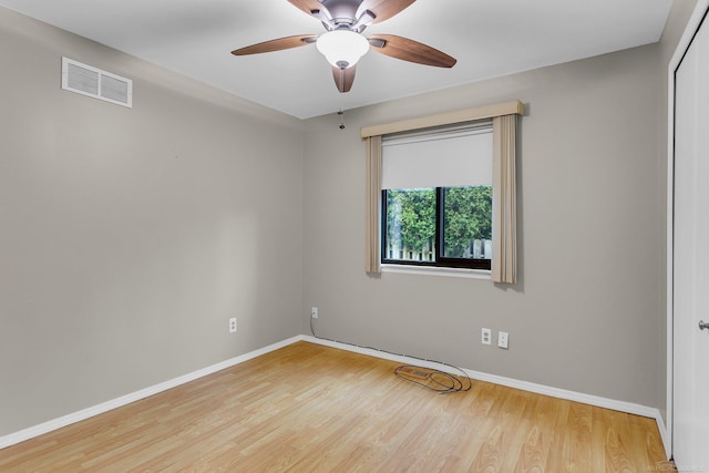
[[[234,55],[259,54],[316,43],[332,65],[335,84],[340,92],[349,92],[354,82],[357,61],[373,48],[374,51],[403,61],[436,68],[452,68],[456,60],[427,44],[393,34],[362,32],[398,14],[415,0],[288,0],[307,14],[322,22],[327,32],[300,34],[265,41],[232,51]]]

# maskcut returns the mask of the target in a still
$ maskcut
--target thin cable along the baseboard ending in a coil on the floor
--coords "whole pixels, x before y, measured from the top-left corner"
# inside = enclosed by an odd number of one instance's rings
[[[402,364],[394,369],[394,374],[398,376],[399,378],[407,380],[409,382],[412,382],[414,384],[418,384],[420,387],[423,387],[425,389],[429,389],[431,391],[435,391],[439,394],[448,394],[451,392],[465,392],[465,391],[470,391],[470,389],[473,387],[473,381],[470,379],[467,373],[462,368],[459,368],[454,364],[444,363],[443,361],[429,360],[427,358],[413,357],[411,354],[394,353],[392,351],[382,350],[381,348],[362,347],[360,345],[349,343],[347,341],[332,340],[330,338],[318,337],[315,333],[315,328],[312,327],[312,317],[310,318],[310,332],[312,333],[312,337],[319,340],[327,340],[327,341],[332,341],[335,343],[349,345],[350,347],[362,348],[366,350],[374,350],[382,353],[392,354],[394,357],[412,358],[414,360],[425,361],[429,363],[436,363],[443,367],[452,368],[455,371],[459,371],[462,374],[462,377],[456,377],[441,370],[415,367],[412,364]],[[461,381],[461,378],[465,382]]]

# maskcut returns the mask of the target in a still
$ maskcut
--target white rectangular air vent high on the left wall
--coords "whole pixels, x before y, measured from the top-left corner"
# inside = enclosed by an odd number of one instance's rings
[[[62,58],[62,89],[117,105],[133,106],[132,80],[69,58]]]

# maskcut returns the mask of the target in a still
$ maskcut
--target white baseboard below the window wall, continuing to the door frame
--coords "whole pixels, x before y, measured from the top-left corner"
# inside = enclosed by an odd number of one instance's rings
[[[407,356],[397,356],[387,353],[386,351],[379,351],[371,348],[358,347],[354,345],[341,343],[332,340],[325,340],[310,336],[302,336],[302,340],[309,341],[312,343],[325,345],[328,347],[339,348],[342,350],[353,351],[357,353],[368,354],[371,357],[383,358],[392,361],[401,361],[408,364],[418,364],[428,368],[436,368],[444,371],[451,371],[446,369],[445,366],[438,364],[435,362],[425,362],[421,361],[417,358],[409,358]],[[508,388],[521,389],[528,392],[534,392],[537,394],[551,395],[553,398],[564,399],[567,401],[576,401],[582,402],[584,404],[596,405],[598,408],[610,409],[614,411],[625,412],[628,414],[640,415],[644,418],[655,419],[657,422],[657,429],[660,432],[660,438],[662,439],[662,443],[665,445],[665,452],[669,455],[670,452],[670,442],[669,442],[669,432],[665,426],[665,421],[662,420],[662,415],[657,408],[649,408],[647,405],[635,404],[633,402],[617,401],[614,399],[602,398],[598,395],[585,394],[583,392],[569,391],[566,389],[553,388],[544,384],[537,384],[527,381],[520,381],[512,378],[500,377],[496,374],[483,373],[480,371],[466,370],[463,371],[471,378],[480,381],[492,382],[495,384],[506,385]],[[455,374],[455,371],[452,371]]]

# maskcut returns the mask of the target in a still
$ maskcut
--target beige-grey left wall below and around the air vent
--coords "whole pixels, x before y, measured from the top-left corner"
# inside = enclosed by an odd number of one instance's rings
[[[4,9],[0,58],[0,436],[299,333],[301,121]]]

